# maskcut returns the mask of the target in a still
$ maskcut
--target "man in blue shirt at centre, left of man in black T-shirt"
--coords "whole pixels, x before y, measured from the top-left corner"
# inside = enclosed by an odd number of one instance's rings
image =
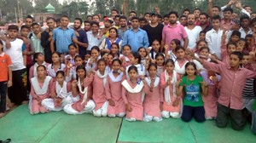
[[[138,17],[131,18],[132,28],[125,31],[122,46],[131,45],[131,51],[137,52],[140,47],[148,48],[148,35],[146,31],[139,28]]]

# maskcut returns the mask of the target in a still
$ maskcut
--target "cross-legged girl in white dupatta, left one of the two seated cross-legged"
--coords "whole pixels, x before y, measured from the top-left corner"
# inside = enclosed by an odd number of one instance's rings
[[[59,112],[67,104],[73,103],[71,83],[64,80],[65,73],[58,71],[56,81],[51,87],[51,98],[42,100],[42,105],[49,111]]]

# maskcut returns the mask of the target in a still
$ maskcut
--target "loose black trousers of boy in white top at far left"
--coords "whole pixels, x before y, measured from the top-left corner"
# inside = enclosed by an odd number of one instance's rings
[[[13,86],[8,88],[9,100],[16,105],[20,105],[22,101],[28,100],[26,91],[26,68],[13,71]]]

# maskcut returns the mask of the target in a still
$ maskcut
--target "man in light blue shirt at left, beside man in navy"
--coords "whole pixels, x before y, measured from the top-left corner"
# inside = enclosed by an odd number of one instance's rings
[[[75,32],[68,27],[69,19],[66,15],[61,16],[61,26],[53,31],[53,38],[50,43],[51,52],[55,52],[54,44],[56,43],[56,51],[61,54],[68,53],[68,45],[73,41],[77,41]]]

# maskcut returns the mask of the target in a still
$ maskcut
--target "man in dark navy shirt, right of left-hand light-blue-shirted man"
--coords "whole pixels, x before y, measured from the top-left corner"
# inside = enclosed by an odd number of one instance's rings
[[[80,18],[76,18],[73,22],[73,28],[75,30],[76,37],[78,37],[77,41],[73,41],[79,46],[79,54],[84,59],[84,55],[86,54],[86,49],[88,47],[88,40],[85,31],[82,30],[81,25],[83,24],[83,20]]]

